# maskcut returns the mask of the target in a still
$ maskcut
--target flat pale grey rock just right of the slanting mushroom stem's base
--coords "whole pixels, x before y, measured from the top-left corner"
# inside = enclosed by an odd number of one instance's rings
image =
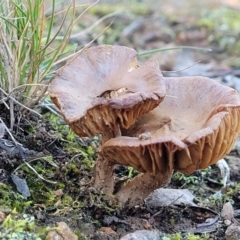
[[[194,196],[188,189],[160,188],[146,198],[146,205],[150,208],[169,205],[197,206],[193,199]]]

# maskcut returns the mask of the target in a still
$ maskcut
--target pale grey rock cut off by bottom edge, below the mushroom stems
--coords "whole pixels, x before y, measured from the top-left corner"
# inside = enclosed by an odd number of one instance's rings
[[[137,230],[134,233],[129,233],[120,240],[160,240],[162,234],[158,231],[152,230]]]

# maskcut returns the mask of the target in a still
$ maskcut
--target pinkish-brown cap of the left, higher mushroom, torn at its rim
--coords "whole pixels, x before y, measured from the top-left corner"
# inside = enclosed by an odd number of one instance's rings
[[[114,136],[163,100],[165,86],[157,61],[138,67],[137,52],[102,45],[83,50],[52,80],[49,93],[79,136]]]

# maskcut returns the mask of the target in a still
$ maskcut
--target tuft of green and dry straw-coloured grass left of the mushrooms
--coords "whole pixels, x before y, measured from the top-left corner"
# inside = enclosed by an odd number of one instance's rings
[[[97,2],[76,16],[76,7],[84,5],[77,6],[73,0],[59,16],[53,0],[46,17],[44,0],[0,0],[0,88],[8,95],[0,100],[9,107],[11,129],[14,105],[32,109],[45,98],[55,63],[76,51],[67,49],[74,25]],[[62,20],[56,29],[58,18]]]

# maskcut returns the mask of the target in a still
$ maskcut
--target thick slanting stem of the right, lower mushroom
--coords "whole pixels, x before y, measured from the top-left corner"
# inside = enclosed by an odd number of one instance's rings
[[[171,177],[172,173],[167,171],[157,175],[141,173],[123,186],[115,196],[121,206],[134,207],[155,189],[165,186]]]

